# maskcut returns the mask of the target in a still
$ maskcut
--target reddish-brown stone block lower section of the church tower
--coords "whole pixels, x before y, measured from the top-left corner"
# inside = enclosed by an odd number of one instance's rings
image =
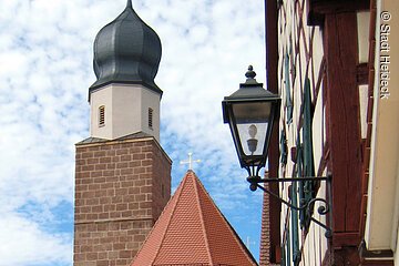
[[[171,196],[151,139],[76,145],[74,266],[129,265]]]

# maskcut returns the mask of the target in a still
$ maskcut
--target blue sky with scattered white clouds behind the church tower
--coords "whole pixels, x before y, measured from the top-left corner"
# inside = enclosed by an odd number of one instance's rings
[[[264,1],[133,0],[163,48],[161,144],[176,188],[194,171],[258,257],[260,193],[239,168],[221,102],[248,64],[265,82]],[[92,45],[125,0],[0,1],[0,266],[72,265],[74,143],[89,136]]]

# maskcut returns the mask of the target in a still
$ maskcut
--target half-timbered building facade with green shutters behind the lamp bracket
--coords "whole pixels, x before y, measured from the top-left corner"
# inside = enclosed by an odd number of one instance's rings
[[[260,265],[399,265],[399,4],[265,1],[267,84],[282,95],[269,175],[331,183],[270,187],[293,205],[319,197],[320,215],[265,195]],[[277,145],[279,144],[279,145]],[[269,207],[267,207],[269,206]],[[332,229],[310,221],[314,217]],[[269,229],[269,231],[268,231]]]

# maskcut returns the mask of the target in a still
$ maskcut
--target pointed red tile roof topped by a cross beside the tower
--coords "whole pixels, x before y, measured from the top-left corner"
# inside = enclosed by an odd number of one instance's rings
[[[192,171],[131,264],[161,265],[257,265]]]

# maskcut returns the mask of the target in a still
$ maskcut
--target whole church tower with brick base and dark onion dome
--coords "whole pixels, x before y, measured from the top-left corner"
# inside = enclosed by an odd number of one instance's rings
[[[170,200],[154,82],[161,53],[131,0],[95,38],[90,137],[75,155],[74,266],[129,265]]]

